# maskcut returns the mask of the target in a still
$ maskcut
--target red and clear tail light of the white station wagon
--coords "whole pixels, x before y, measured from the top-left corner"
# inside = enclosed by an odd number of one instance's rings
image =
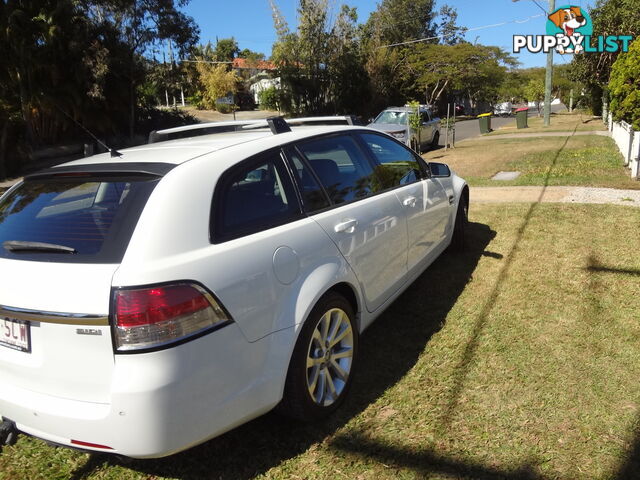
[[[190,283],[118,289],[113,312],[118,351],[168,346],[231,321],[211,294]]]

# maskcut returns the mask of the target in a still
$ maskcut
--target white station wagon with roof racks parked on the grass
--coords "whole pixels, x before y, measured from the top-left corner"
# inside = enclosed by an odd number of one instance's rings
[[[155,132],[0,197],[1,442],[161,457],[343,402],[469,191],[386,134],[290,123]]]

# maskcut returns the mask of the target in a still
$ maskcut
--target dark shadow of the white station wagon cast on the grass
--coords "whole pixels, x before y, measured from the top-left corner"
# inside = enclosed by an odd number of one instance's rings
[[[485,249],[496,232],[469,223],[467,249],[445,252],[362,336],[360,361],[349,397],[321,423],[301,424],[268,413],[185,452],[156,460],[118,459],[95,454],[72,480],[105,464],[122,465],[150,477],[182,480],[253,478],[333,435],[375,402],[416,364],[431,337],[444,325],[481,257],[499,258]]]

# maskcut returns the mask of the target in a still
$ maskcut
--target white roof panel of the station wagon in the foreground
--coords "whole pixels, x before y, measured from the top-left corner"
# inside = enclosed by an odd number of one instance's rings
[[[317,120],[319,117],[314,117]],[[225,122],[229,123],[229,122]],[[210,125],[210,124],[207,124]],[[139,145],[136,147],[119,150],[119,157],[102,153],[72,162],[67,162],[58,167],[70,167],[80,165],[99,165],[104,163],[171,163],[181,164],[189,160],[218,152],[220,150],[242,147],[243,158],[252,154],[258,154],[270,148],[285,145],[297,140],[341,131],[358,130],[366,127],[349,125],[329,126],[291,126],[291,131],[274,134],[268,128],[256,128],[234,132],[210,133],[198,135],[197,128],[184,128],[184,131],[194,130],[194,136],[167,140],[157,143]],[[171,129],[178,131],[178,129]],[[253,153],[251,153],[253,152]],[[248,155],[246,155],[248,153]],[[55,167],[55,168],[58,168]]]

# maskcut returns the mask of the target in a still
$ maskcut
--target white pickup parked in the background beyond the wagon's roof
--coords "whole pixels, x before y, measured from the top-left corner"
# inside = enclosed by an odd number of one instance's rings
[[[420,105],[420,129],[412,131],[409,127],[409,115],[412,107],[389,107],[368,126],[391,135],[415,151],[436,147],[440,141],[440,118],[434,117],[426,105]]]

